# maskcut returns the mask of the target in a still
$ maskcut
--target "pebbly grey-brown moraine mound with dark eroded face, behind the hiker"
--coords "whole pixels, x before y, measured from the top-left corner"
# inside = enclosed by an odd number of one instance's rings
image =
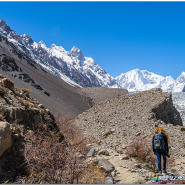
[[[185,156],[185,131],[179,112],[173,106],[172,94],[161,89],[120,96],[102,102],[74,120],[88,136],[94,136],[95,147],[122,149],[139,135],[151,139],[157,127],[168,133],[170,153]]]

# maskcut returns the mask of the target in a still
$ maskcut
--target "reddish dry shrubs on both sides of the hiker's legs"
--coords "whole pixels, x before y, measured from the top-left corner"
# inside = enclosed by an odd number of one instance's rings
[[[152,141],[148,138],[138,136],[124,149],[124,153],[130,157],[137,157],[141,162],[149,163],[153,169],[157,167],[157,156],[153,153]],[[173,157],[167,158],[167,167],[175,165]]]

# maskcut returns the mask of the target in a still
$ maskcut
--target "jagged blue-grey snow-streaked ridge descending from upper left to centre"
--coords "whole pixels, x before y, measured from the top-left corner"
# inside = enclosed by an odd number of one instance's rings
[[[45,70],[71,85],[81,87],[120,87],[117,81],[102,69],[92,58],[85,57],[80,49],[66,51],[52,44],[47,48],[43,41],[34,42],[26,34],[18,35],[0,20],[0,35],[7,37],[20,51],[36,61]],[[78,85],[77,85],[78,84]]]

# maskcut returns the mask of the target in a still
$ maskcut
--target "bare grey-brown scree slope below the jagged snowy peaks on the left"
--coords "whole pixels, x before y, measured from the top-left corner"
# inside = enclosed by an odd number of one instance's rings
[[[16,87],[32,89],[31,97],[38,99],[54,114],[75,117],[89,109],[89,99],[58,77],[45,71],[35,61],[0,36],[0,74],[8,76]]]

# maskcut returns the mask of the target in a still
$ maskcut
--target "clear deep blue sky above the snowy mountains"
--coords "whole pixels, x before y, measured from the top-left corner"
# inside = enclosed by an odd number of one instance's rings
[[[116,77],[135,68],[176,79],[185,71],[185,2],[0,2],[18,34],[73,46]],[[2,8],[3,7],[3,8]]]

